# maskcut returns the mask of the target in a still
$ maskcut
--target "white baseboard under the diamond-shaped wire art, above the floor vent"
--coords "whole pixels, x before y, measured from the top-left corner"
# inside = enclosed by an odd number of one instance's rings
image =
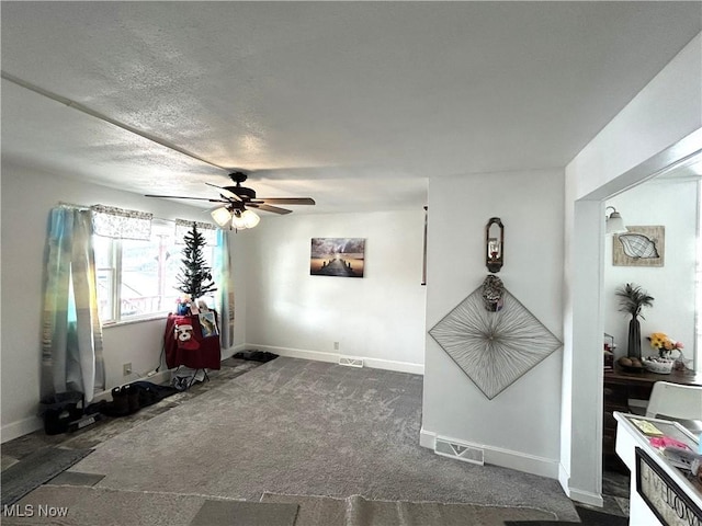
[[[455,441],[469,447],[483,449],[485,451],[485,464],[501,466],[503,468],[514,469],[517,471],[523,471],[525,473],[537,474],[540,477],[546,477],[548,479],[558,478],[559,462],[556,459],[537,457],[535,455],[513,451],[511,449],[488,446],[485,444],[475,444],[458,438],[451,438],[445,436],[443,438]],[[422,427],[419,432],[419,445],[433,450],[435,443],[437,434]]]

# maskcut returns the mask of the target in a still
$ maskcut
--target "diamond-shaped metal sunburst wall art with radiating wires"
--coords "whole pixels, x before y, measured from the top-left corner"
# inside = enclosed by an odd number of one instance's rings
[[[563,345],[495,275],[429,334],[488,400]]]

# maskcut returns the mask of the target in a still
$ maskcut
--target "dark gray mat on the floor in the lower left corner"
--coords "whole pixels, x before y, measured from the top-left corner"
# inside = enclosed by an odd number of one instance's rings
[[[46,447],[2,471],[2,503],[9,506],[30,491],[70,468],[92,449]]]

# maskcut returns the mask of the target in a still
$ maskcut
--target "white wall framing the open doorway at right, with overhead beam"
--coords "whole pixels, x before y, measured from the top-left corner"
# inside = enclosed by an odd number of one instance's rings
[[[600,504],[602,199],[702,147],[698,35],[566,167],[564,367],[559,481]]]

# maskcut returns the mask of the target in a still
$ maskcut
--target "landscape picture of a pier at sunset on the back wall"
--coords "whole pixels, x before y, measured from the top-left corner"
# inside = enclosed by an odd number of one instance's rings
[[[363,277],[364,266],[365,239],[312,238],[310,275]]]

